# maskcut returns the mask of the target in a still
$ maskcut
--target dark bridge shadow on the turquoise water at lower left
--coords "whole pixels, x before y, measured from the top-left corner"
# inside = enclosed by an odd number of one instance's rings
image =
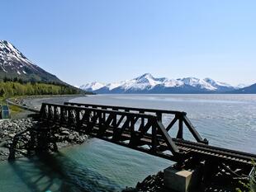
[[[62,152],[10,162],[17,176],[31,191],[121,191],[121,186],[96,171],[65,156]]]

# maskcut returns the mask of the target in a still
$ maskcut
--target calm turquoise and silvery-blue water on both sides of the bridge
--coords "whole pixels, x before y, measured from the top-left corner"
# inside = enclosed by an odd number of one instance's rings
[[[256,153],[255,95],[102,95],[73,101],[184,110],[212,145]],[[172,163],[92,138],[54,156],[0,162],[0,191],[120,191]]]

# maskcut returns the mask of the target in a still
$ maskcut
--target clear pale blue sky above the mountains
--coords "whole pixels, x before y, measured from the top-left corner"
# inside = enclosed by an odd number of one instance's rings
[[[256,82],[255,0],[2,0],[0,39],[65,82]]]

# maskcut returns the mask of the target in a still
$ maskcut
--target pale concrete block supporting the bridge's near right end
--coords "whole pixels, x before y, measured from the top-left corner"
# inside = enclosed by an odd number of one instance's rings
[[[199,168],[187,171],[169,166],[164,170],[164,186],[177,192],[187,192],[197,187],[201,180]]]

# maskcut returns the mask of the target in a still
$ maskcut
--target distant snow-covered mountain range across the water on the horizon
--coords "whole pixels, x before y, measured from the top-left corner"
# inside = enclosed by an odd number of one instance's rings
[[[233,91],[236,89],[227,83],[217,82],[211,78],[156,78],[150,73],[145,73],[140,77],[123,82],[114,82],[106,85],[93,82],[80,88],[96,93],[213,93]]]

